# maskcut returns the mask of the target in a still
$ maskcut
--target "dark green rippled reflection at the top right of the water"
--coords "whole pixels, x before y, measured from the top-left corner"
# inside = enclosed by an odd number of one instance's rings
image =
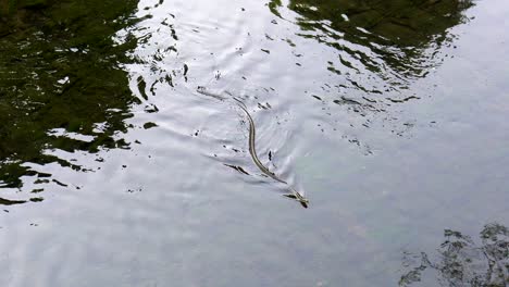
[[[284,17],[284,3],[272,0],[269,8]],[[356,89],[382,93],[407,87],[439,64],[440,48],[455,38],[449,29],[467,21],[463,12],[472,5],[471,0],[289,0],[287,9],[298,15],[299,36],[337,49],[328,71]],[[388,85],[373,89],[351,77],[365,72]]]

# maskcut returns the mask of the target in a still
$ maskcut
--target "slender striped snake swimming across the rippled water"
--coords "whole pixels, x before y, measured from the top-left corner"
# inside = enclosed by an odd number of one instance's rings
[[[198,88],[198,92],[202,93],[202,95],[206,95],[206,96],[211,96],[213,98],[216,98],[216,99],[220,99],[220,100],[225,100],[226,98],[222,97],[222,96],[219,96],[219,95],[215,95],[215,93],[212,93],[212,92],[209,92],[207,91],[204,88]],[[229,93],[231,95],[231,93]],[[258,153],[257,153],[257,149],[256,149],[256,126],[254,126],[254,121],[252,120],[252,116],[251,114],[248,112],[248,109],[247,107],[244,104],[244,102],[241,100],[239,100],[238,98],[234,97],[233,95],[231,95],[232,98],[237,102],[237,105],[244,111],[244,113],[246,114],[247,118],[248,118],[248,122],[249,122],[249,154],[251,155],[251,159],[252,161],[254,162],[254,164],[257,165],[257,167],[266,176],[269,176],[270,178],[278,182],[278,183],[282,183],[284,185],[286,185],[290,191],[290,194],[286,194],[284,195],[285,197],[287,198],[291,198],[291,199],[295,199],[297,200],[303,208],[308,208],[308,204],[309,204],[309,200],[302,196],[300,192],[298,192],[297,190],[295,190],[287,182],[283,180],[282,178],[280,178],[276,174],[274,174],[273,172],[271,172],[265,165],[263,165],[263,163],[260,161],[260,159],[258,158]]]

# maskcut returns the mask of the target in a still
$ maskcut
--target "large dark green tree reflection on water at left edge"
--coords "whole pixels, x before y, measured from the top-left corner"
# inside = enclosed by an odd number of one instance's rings
[[[83,169],[47,151],[129,148],[119,133],[139,100],[121,64],[136,42],[113,36],[138,1],[2,2],[13,4],[0,7],[0,188],[51,177],[30,164]]]

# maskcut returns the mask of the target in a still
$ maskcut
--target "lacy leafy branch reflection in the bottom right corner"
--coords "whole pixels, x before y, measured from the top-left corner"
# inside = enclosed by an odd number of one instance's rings
[[[405,254],[408,272],[399,279],[399,286],[421,283],[426,273],[434,273],[439,286],[507,286],[509,228],[498,223],[485,225],[480,233],[481,244],[457,230],[446,229],[444,236],[436,259],[425,252]]]

